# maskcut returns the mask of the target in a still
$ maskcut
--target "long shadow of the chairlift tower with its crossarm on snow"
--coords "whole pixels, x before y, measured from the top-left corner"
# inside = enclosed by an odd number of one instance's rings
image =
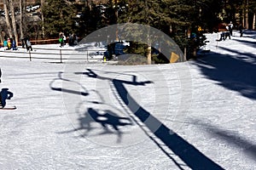
[[[172,150],[174,154],[179,156],[179,158],[183,160],[183,162],[185,162],[186,165],[191,169],[224,169],[223,167],[220,167],[217,163],[212,161],[210,158],[203,155],[200,150],[197,150],[195,146],[189,144],[189,142],[187,142],[177,133],[174,133],[172,129],[166,127],[166,125],[160,122],[156,117],[152,116],[148,111],[143,109],[143,107],[137,104],[137,101],[132,98],[132,96],[125,88],[125,84],[145,86],[147,83],[151,82],[137,82],[135,76],[133,78],[133,81],[101,77],[97,75],[95,71],[92,71],[90,69],[87,69],[87,71],[83,73],[76,74],[84,74],[87,77],[111,81],[114,88],[117,90],[120,99],[132,112],[131,117],[137,116],[137,118],[141,122],[143,122],[143,124],[148,127],[148,129],[152,133],[154,133],[155,137],[160,139],[162,143],[164,143],[170,150]],[[135,108],[137,109],[135,110]],[[133,119],[133,121],[137,122],[135,119]],[[143,126],[140,126],[138,122],[137,125],[143,129]],[[143,131],[145,132],[145,130]],[[160,144],[157,139],[154,139],[148,133],[146,134],[148,135],[148,138],[152,139],[154,144],[156,144],[160,148],[160,150],[162,150],[166,154],[166,156],[168,156],[177,165],[177,167],[183,169],[183,167],[181,167],[181,165],[177,161],[175,161],[175,159],[168,153],[166,149],[164,149],[162,144]]]

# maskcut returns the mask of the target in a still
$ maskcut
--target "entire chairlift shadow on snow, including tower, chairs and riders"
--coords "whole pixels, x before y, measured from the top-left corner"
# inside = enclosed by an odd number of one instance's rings
[[[77,72],[75,74],[83,74],[89,78],[111,81],[111,83],[113,83],[113,87],[116,89],[119,95],[119,99],[121,99],[123,103],[125,103],[125,106],[131,111],[132,115],[129,116],[133,119],[133,121],[135,121],[133,117],[137,116],[139,121],[143,122],[144,126],[146,126],[149,129],[149,131],[154,133],[156,139],[154,139],[145,130],[143,130],[143,132],[148,135],[148,138],[153,140],[154,144],[156,144],[160,148],[160,150],[162,150],[166,154],[166,156],[168,156],[177,165],[178,168],[183,169],[183,167],[181,167],[181,165],[177,163],[177,161],[175,161],[175,159],[168,153],[168,151],[166,151],[166,149],[163,148],[163,146],[158,142],[157,139],[160,139],[160,141],[164,143],[169,148],[169,150],[172,150],[172,152],[181,160],[183,160],[183,162],[191,169],[223,169],[223,167],[220,167],[217,163],[215,163],[210,158],[202,154],[200,150],[197,150],[195,146],[189,144],[189,142],[187,142],[177,133],[173,132],[172,129],[166,127],[166,125],[160,122],[156,117],[152,116],[141,105],[139,105],[135,99],[131,97],[131,95],[125,88],[125,84],[130,84],[134,86],[145,86],[146,84],[152,82],[137,82],[136,76],[132,76],[132,81],[113,79],[110,77],[101,77],[97,75],[95,71],[92,71],[90,69],[87,69],[87,71],[85,72]],[[66,79],[61,78],[61,73],[59,74],[58,79],[61,79],[62,81],[68,81]],[[73,92],[72,89],[54,88],[52,87],[52,83],[50,83],[50,88],[55,91],[63,90],[63,92],[65,93],[79,94],[79,92]],[[89,95],[88,91],[86,95]],[[98,102],[92,103],[96,105],[101,104]],[[87,111],[85,111],[84,116],[79,117],[78,121],[79,128],[75,130],[84,129],[85,131],[91,131],[94,128],[91,126],[91,123],[97,122],[102,127],[105,127],[105,132],[100,134],[113,133],[109,131],[108,127],[106,127],[108,125],[115,130],[115,133],[117,133],[117,135],[119,136],[119,140],[121,138],[121,132],[119,132],[119,127],[131,125],[131,119],[129,117],[117,116],[117,114],[113,113],[113,111],[108,110],[104,111],[104,113],[102,114],[91,107],[88,108]],[[143,127],[140,126],[137,121],[135,122],[139,127],[143,129]],[[64,133],[70,133],[73,131]],[[86,135],[86,133],[84,133],[84,135]]]

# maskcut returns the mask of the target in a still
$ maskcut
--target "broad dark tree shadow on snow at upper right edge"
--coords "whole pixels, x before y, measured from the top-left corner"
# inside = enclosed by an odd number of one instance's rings
[[[218,85],[240,93],[248,99],[256,99],[256,57],[254,54],[219,47],[235,53],[211,53],[193,63],[202,74],[217,82]]]

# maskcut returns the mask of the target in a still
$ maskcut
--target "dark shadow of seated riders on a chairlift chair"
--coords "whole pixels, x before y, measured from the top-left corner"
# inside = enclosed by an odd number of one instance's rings
[[[119,127],[132,125],[130,118],[120,117],[113,111],[106,110],[102,114],[93,108],[88,108],[88,110],[84,113],[84,116],[79,118],[80,127],[76,130],[85,130],[83,135],[86,136],[91,130],[93,130],[93,128],[96,128],[91,125],[95,122],[101,124],[103,127],[103,132],[100,134],[117,134],[117,143],[120,143],[122,139],[122,132],[119,130]]]

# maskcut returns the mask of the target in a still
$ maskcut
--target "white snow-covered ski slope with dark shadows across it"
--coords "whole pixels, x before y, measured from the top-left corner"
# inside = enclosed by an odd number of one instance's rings
[[[256,32],[234,35],[173,65],[1,58],[0,169],[256,169]]]

